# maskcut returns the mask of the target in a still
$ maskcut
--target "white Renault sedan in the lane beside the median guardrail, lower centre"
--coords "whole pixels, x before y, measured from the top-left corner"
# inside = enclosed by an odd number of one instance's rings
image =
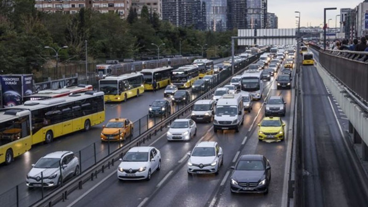
[[[151,180],[161,168],[161,154],[155,147],[132,147],[120,161],[117,178],[121,180]]]

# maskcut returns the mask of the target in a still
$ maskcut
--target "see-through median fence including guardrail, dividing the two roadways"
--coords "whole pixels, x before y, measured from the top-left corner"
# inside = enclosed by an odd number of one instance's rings
[[[259,59],[258,54],[243,62],[236,63],[235,73],[240,73],[246,66]],[[123,150],[131,146],[139,146],[151,139],[156,133],[162,131],[171,122],[179,117],[183,117],[190,112],[192,105],[199,99],[212,98],[212,94],[217,87],[222,87],[229,82],[231,77],[231,67],[223,69],[213,80],[210,89],[191,94],[190,104],[173,104],[172,113],[169,117],[149,117],[148,114],[134,122],[133,135],[124,141],[104,143],[104,147],[97,148],[100,143],[93,143],[82,150],[75,152],[79,159],[80,171],[78,176],[69,180],[62,180],[62,184],[57,187],[28,188],[25,182],[19,183],[10,190],[0,194],[1,207],[28,207],[34,206],[53,206],[55,203],[64,199],[73,190],[82,187],[88,180],[93,180],[94,176],[103,172],[104,168],[110,168],[119,157],[123,156]]]

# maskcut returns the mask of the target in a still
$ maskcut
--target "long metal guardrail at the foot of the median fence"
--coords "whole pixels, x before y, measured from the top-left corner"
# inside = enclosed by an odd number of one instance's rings
[[[261,56],[263,52],[259,53],[258,55],[252,56],[245,60],[244,62],[238,64],[238,67],[236,68],[236,73],[234,75],[237,75],[245,70],[245,68],[249,65],[254,63],[256,60],[259,59],[259,56]],[[241,66],[241,67],[239,67]],[[66,183],[64,186],[60,187],[59,189],[55,190],[48,196],[46,196],[44,199],[40,200],[37,203],[32,204],[32,206],[37,207],[51,207],[58,203],[61,200],[66,199],[66,197],[72,193],[76,189],[81,189],[82,185],[85,182],[88,182],[89,180],[93,180],[95,176],[98,175],[98,173],[103,172],[104,169],[110,168],[110,166],[114,166],[114,163],[118,161],[118,159],[123,157],[123,154],[128,151],[131,147],[140,146],[141,144],[144,144],[146,141],[151,140],[152,136],[156,135],[158,131],[162,131],[164,128],[169,126],[175,119],[177,119],[180,116],[183,116],[185,113],[190,111],[195,103],[195,101],[200,99],[206,99],[210,98],[212,94],[215,92],[215,90],[219,87],[222,87],[223,85],[227,84],[232,75],[228,75],[226,78],[222,79],[222,83],[218,84],[216,87],[212,88],[210,91],[206,92],[205,94],[195,98],[191,103],[184,106],[182,109],[178,110],[176,113],[170,115],[166,119],[162,120],[161,122],[157,123],[155,126],[153,126],[151,129],[145,131],[140,136],[135,138],[131,141],[131,143],[124,145],[123,147],[117,149],[116,151],[112,152],[109,156],[103,158],[99,162],[97,162],[95,165],[93,165],[91,168],[87,169],[85,172],[83,172],[81,175],[75,177],[74,179],[70,180],[68,183]]]

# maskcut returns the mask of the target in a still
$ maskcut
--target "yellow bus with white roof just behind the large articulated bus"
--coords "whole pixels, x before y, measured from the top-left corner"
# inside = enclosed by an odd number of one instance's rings
[[[144,92],[143,74],[130,73],[120,76],[108,76],[99,80],[100,91],[105,92],[105,102],[127,101]]]

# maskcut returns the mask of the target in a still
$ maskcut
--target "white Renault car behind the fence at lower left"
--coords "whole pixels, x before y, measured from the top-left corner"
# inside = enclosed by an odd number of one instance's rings
[[[47,154],[40,158],[36,164],[32,164],[32,167],[26,178],[28,187],[42,187],[42,183],[43,187],[59,186],[62,179],[78,175],[80,170],[79,159],[70,151]]]

